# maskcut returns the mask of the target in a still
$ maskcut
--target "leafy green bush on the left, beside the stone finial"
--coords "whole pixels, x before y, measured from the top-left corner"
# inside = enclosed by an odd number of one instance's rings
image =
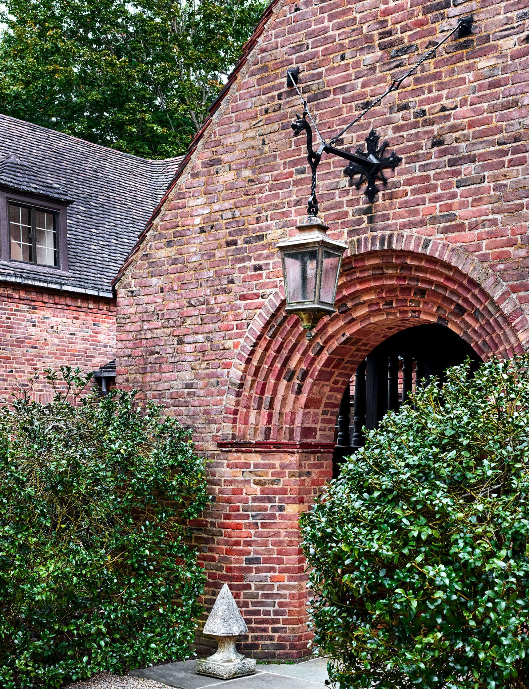
[[[189,657],[203,572],[183,520],[207,504],[190,432],[134,392],[0,409],[0,686],[59,686]]]

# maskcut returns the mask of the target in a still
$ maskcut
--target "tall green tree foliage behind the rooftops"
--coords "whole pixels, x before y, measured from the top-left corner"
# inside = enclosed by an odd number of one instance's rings
[[[185,151],[263,0],[8,0],[0,112],[147,158]]]

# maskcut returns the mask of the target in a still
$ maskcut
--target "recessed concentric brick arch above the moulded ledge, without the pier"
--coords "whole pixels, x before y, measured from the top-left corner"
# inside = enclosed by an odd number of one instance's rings
[[[394,333],[437,322],[481,356],[523,351],[527,319],[515,296],[467,251],[419,236],[353,240],[337,313],[307,340],[273,294],[242,343],[225,398],[223,440],[332,442],[346,380]]]

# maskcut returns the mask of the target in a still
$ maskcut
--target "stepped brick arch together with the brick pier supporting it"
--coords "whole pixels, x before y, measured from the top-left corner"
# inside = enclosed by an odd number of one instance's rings
[[[362,360],[423,326],[444,328],[484,359],[512,356],[528,340],[515,296],[464,251],[422,238],[391,241],[373,235],[365,246],[351,243],[336,313],[322,319],[312,340],[284,312],[278,289],[238,342],[214,457],[208,577],[211,592],[229,581],[247,608],[244,652],[269,644],[285,657],[307,653],[299,515],[332,476],[340,400]]]

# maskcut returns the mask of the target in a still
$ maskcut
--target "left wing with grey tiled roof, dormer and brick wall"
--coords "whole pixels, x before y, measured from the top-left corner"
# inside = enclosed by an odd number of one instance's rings
[[[115,358],[112,278],[179,160],[0,115],[0,395],[34,369]],[[36,392],[48,399],[45,385]]]

